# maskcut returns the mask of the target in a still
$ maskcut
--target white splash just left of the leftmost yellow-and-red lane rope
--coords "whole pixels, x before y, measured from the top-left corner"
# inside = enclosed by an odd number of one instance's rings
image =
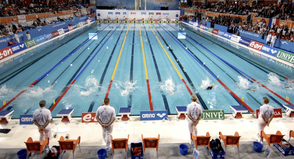
[[[80,90],[80,95],[88,96],[97,91],[99,88],[98,80],[95,76],[88,76],[83,86],[77,86]]]

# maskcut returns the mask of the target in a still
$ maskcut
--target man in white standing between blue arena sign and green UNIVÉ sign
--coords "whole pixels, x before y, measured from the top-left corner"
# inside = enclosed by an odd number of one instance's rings
[[[196,102],[197,97],[195,94],[191,95],[191,101],[187,106],[188,128],[190,133],[197,136],[197,124],[202,117],[202,107]]]

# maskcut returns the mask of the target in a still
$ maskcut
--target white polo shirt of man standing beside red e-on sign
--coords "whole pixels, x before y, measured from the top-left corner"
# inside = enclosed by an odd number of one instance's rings
[[[116,117],[115,110],[109,105],[98,107],[96,116],[99,117],[103,124],[108,124],[112,118]]]

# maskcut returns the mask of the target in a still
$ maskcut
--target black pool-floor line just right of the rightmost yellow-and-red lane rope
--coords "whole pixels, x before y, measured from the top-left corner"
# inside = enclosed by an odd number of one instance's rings
[[[153,26],[154,26],[154,24],[153,24]],[[156,28],[155,26],[154,26],[154,28],[156,29],[156,31],[158,32],[158,34],[160,35],[161,39],[162,39],[163,42],[166,44],[166,46],[169,47],[169,45],[167,44],[166,40],[164,40],[164,38],[163,38],[162,35],[159,33],[159,31],[157,30],[157,28]],[[176,55],[173,53],[173,51],[172,51],[171,49],[169,49],[169,51],[170,51],[171,54],[173,55],[173,58],[177,61],[178,66],[181,68],[181,70],[182,70],[182,72],[184,73],[185,77],[187,78],[189,84],[192,86],[192,89],[193,89],[194,93],[197,92],[197,91],[196,91],[196,88],[195,88],[195,86],[194,86],[194,84],[193,84],[193,82],[191,81],[191,78],[190,78],[190,77],[188,76],[188,74],[184,71],[184,68],[183,68],[182,64],[180,63],[180,60],[178,60],[178,58],[176,57]],[[200,95],[199,93],[195,93],[195,95],[197,96],[199,102],[200,102],[201,105],[203,106],[203,109],[204,109],[204,110],[208,110],[208,107],[207,107],[207,105],[205,104],[205,102],[203,101],[201,95]]]

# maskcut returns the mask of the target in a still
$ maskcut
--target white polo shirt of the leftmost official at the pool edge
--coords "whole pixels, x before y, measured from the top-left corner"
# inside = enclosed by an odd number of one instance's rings
[[[41,126],[45,125],[45,123],[50,119],[52,119],[51,112],[46,108],[39,108],[33,113],[33,120],[36,120]],[[50,123],[46,126],[46,128],[48,126],[50,127]]]

